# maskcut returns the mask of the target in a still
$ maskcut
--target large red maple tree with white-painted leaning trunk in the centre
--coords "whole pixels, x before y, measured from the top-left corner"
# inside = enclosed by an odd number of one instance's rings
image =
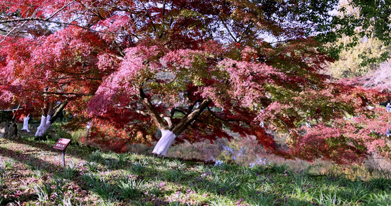
[[[324,75],[332,59],[310,34],[330,3],[2,2],[0,24],[12,28],[0,45],[2,100],[44,114],[60,102],[93,122],[89,141],[118,151],[152,144],[157,130],[157,155],[232,130],[290,158],[388,156],[388,115],[368,108],[388,93]]]

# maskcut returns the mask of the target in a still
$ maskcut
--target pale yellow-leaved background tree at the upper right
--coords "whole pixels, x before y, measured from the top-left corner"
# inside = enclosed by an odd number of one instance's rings
[[[362,18],[361,9],[357,6],[350,1],[339,1],[337,17]],[[342,34],[337,43],[328,44],[329,47],[342,46],[339,58],[331,62],[327,69],[331,76],[338,79],[355,78],[374,71],[379,66],[379,58],[383,59],[384,54],[391,52],[391,47],[386,41],[381,41],[379,37],[371,34],[373,26],[364,29],[364,26],[357,25],[353,28],[353,33]]]

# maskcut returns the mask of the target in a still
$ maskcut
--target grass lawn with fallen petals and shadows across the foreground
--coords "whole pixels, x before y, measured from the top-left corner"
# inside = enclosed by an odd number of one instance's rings
[[[115,154],[0,139],[0,205],[391,205],[391,180]]]

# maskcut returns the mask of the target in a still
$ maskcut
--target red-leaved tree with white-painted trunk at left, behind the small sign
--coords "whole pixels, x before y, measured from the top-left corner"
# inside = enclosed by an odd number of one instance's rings
[[[25,115],[42,115],[36,136],[45,133],[67,104],[69,111],[82,113],[80,105],[103,76],[95,65],[97,49],[104,48],[100,44],[99,38],[78,27],[38,38],[5,39],[0,52],[2,102],[21,104]]]

